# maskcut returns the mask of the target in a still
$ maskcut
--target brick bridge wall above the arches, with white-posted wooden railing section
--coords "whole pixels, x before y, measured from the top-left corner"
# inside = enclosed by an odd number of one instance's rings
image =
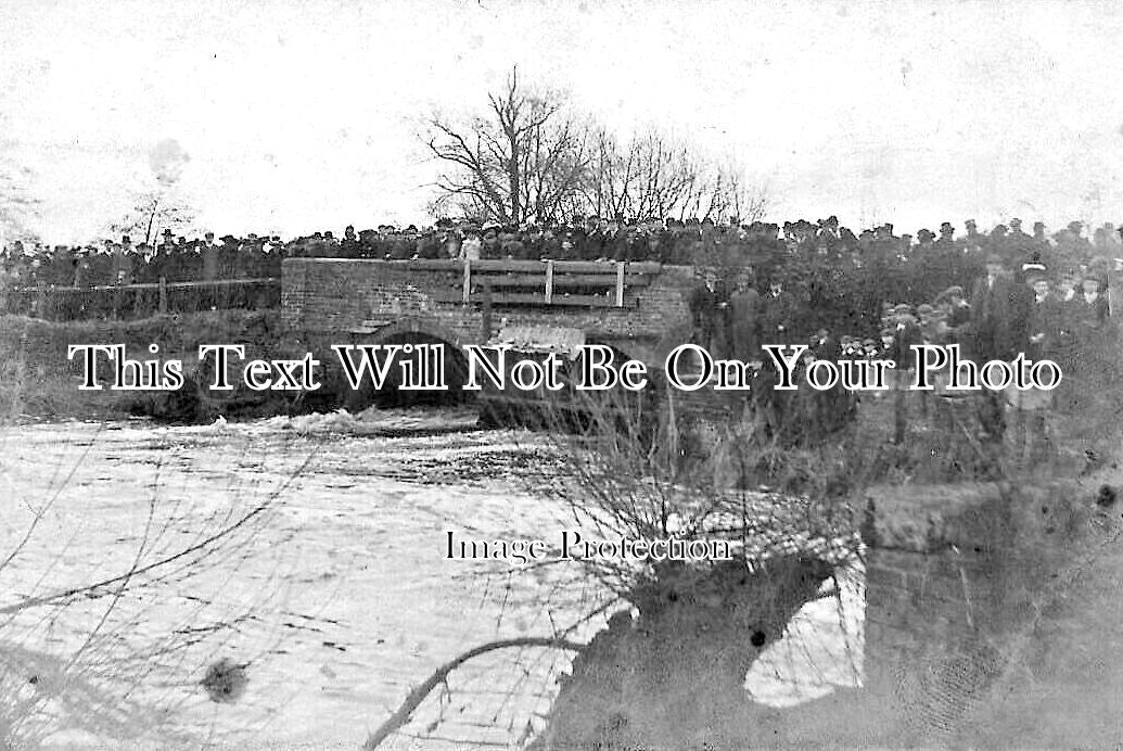
[[[649,365],[687,340],[694,269],[650,263],[289,258],[281,303],[328,344],[485,344],[504,328],[581,331]]]

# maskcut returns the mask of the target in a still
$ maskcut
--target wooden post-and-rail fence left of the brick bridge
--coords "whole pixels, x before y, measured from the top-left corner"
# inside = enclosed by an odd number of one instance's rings
[[[276,277],[75,286],[0,287],[0,312],[49,320],[124,319],[201,310],[275,308]]]

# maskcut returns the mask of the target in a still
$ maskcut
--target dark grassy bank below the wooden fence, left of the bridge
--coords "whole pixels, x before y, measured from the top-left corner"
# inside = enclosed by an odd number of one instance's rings
[[[128,357],[179,358],[185,374],[198,364],[203,344],[246,345],[247,357],[277,357],[282,323],[276,311],[207,311],[134,321],[52,322],[0,317],[0,414],[8,418],[106,419],[143,411],[153,394],[80,391],[82,364],[66,357],[79,344],[125,345]],[[150,355],[149,345],[159,354]],[[106,369],[107,377],[110,370]]]

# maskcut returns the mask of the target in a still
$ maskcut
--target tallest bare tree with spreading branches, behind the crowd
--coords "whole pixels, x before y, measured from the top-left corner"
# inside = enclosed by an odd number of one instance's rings
[[[584,178],[587,129],[559,95],[523,89],[517,67],[487,103],[485,117],[463,127],[429,120],[426,145],[447,168],[435,205],[510,225],[556,220]]]

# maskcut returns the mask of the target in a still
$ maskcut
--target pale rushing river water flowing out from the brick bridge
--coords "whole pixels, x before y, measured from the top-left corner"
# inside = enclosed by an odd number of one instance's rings
[[[4,428],[0,730],[17,744],[355,747],[472,647],[583,619],[569,635],[587,640],[603,625],[588,616],[611,598],[574,571],[445,558],[449,530],[551,539],[573,526],[528,479],[528,467],[549,476],[539,437],[378,434],[387,420],[341,413]],[[787,705],[857,684],[861,596],[860,576],[843,577],[805,607],[747,697]],[[225,694],[204,680],[222,659]],[[517,744],[540,727],[567,659],[474,660],[394,742]]]

